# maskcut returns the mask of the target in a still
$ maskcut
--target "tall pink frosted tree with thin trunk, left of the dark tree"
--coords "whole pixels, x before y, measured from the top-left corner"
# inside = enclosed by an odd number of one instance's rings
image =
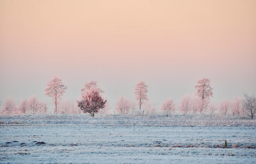
[[[51,81],[48,81],[46,86],[45,95],[52,98],[55,104],[55,113],[57,113],[57,104],[61,100],[61,96],[65,93],[67,86],[65,86],[57,76],[52,76]]]

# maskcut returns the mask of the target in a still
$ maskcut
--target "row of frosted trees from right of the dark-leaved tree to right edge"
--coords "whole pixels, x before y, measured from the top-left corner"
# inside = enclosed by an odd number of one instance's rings
[[[155,111],[155,107],[148,102],[147,97],[147,85],[144,81],[140,81],[134,88],[135,99],[138,101],[138,105],[141,106],[143,111],[142,114],[149,114]],[[183,115],[189,113],[201,113],[208,112],[214,114],[218,112],[221,115],[232,114],[245,116],[249,115],[253,119],[256,113],[256,98],[254,95],[248,96],[244,94],[244,98],[235,97],[233,101],[229,102],[225,100],[219,103],[217,106],[215,103],[210,102],[210,98],[213,97],[212,87],[210,86],[209,78],[202,78],[198,80],[197,85],[194,86],[196,93],[193,96],[185,94],[182,96],[181,101],[178,106],[179,112],[182,112]],[[136,108],[134,101],[130,101],[124,98],[122,95],[117,101],[115,109],[121,114],[128,114],[129,110]],[[167,98],[166,101],[162,104],[161,110],[166,111],[169,115],[174,113],[176,110],[175,103],[171,98]]]

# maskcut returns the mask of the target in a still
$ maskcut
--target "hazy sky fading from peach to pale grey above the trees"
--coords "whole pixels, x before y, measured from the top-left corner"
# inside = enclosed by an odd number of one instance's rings
[[[148,98],[176,106],[210,78],[213,102],[256,94],[255,0],[0,0],[0,100],[44,95],[58,76],[63,100],[98,81],[114,108],[144,80]]]

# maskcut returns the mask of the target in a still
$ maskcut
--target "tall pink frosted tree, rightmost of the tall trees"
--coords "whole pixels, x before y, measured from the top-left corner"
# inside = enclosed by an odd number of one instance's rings
[[[197,84],[195,87],[196,93],[201,101],[201,109],[200,112],[202,112],[204,109],[208,107],[210,97],[212,96],[212,87],[210,86],[210,79],[209,78],[202,78],[197,81]]]

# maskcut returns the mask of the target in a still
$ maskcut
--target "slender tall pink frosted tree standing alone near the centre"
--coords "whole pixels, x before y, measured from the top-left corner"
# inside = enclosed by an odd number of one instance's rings
[[[148,96],[146,95],[148,93],[147,85],[145,81],[139,81],[138,84],[136,84],[136,87],[134,88],[135,99],[138,101],[138,105],[140,106],[145,102],[148,101]]]

